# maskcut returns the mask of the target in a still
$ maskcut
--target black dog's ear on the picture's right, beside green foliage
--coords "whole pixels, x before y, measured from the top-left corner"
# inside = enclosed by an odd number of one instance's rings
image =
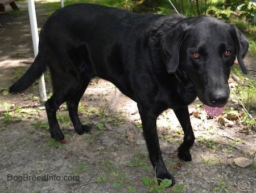
[[[247,74],[247,68],[245,66],[245,63],[243,63],[243,58],[245,57],[248,51],[249,41],[242,34],[242,32],[236,28],[236,26],[232,25],[232,28],[232,35],[234,37],[237,47],[237,60],[243,74]]]

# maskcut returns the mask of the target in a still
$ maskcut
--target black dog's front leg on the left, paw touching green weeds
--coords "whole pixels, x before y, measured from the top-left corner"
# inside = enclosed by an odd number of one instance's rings
[[[158,132],[156,131],[156,118],[158,113],[155,112],[154,107],[146,107],[138,105],[139,114],[141,115],[144,138],[147,143],[147,149],[150,156],[150,161],[156,170],[156,177],[161,182],[161,179],[171,179],[172,186],[175,184],[174,177],[169,173],[164,165],[162,153],[159,146]]]

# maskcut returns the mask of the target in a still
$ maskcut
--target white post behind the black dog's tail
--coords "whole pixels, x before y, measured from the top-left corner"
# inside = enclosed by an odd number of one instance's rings
[[[31,27],[34,54],[36,57],[36,55],[38,55],[39,35],[38,35],[38,23],[36,21],[36,11],[35,11],[34,0],[28,0],[27,5],[28,5],[28,14],[30,16],[30,27]],[[46,84],[44,82],[44,75],[42,75],[41,78],[39,79],[39,92],[40,92],[41,105],[44,106],[44,102],[47,101]]]

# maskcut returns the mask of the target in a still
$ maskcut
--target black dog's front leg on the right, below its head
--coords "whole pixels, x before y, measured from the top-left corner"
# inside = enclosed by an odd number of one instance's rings
[[[184,141],[178,148],[178,157],[184,161],[191,161],[192,158],[189,149],[195,141],[195,136],[191,127],[188,107],[186,106],[185,108],[174,109],[174,113],[176,114],[176,117],[184,131]]]

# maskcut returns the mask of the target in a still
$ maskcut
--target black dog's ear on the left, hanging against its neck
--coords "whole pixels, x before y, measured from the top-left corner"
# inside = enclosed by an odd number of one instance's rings
[[[161,40],[162,50],[166,57],[166,70],[174,74],[179,66],[180,46],[188,31],[186,23],[177,24]]]

